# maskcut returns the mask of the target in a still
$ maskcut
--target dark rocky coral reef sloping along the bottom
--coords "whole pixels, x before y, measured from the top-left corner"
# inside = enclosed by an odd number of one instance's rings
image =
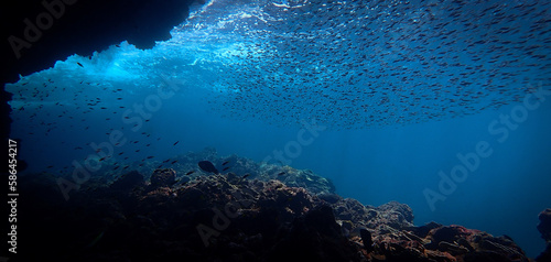
[[[279,170],[197,171],[192,178],[172,168],[131,171],[108,183],[93,177],[68,201],[52,176],[22,176],[18,259],[530,261],[508,237],[435,222],[415,227],[404,204],[365,206],[335,195],[331,182],[311,172],[284,168],[306,178],[273,179],[284,177]],[[542,212],[539,227],[548,241],[550,214]],[[538,261],[549,261],[544,255]]]

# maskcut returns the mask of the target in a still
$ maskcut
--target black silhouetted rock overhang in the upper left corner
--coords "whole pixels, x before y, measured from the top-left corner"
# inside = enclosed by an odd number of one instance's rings
[[[1,78],[19,80],[54,66],[56,61],[128,41],[151,48],[171,37],[170,30],[188,15],[194,0],[20,0],[0,3]],[[203,2],[203,1],[196,1]],[[1,135],[10,134],[11,95],[0,94]]]

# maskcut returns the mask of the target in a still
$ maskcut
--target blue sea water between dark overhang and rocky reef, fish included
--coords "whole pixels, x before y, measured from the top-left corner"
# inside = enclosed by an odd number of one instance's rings
[[[213,146],[536,256],[551,207],[551,96],[533,95],[551,90],[550,3],[469,4],[210,1],[152,50],[123,42],[7,85],[12,137],[29,173],[53,175]],[[472,170],[457,157],[477,151]]]

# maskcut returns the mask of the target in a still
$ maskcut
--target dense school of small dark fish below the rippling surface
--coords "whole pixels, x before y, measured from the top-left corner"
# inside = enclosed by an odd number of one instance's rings
[[[278,124],[316,119],[337,129],[364,129],[498,109],[520,101],[533,86],[550,89],[550,7],[549,1],[258,2],[222,22],[201,22],[224,32],[225,37],[212,34],[210,43],[247,43],[234,52],[236,62],[226,68],[231,73],[219,77],[229,90],[217,99],[224,101],[220,110]]]

